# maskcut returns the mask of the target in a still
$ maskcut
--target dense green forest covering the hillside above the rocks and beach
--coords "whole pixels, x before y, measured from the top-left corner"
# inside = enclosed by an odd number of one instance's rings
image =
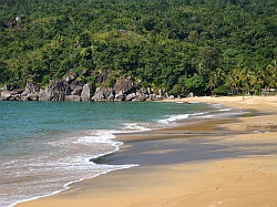
[[[276,3],[1,0],[0,86],[75,73],[96,86],[129,76],[173,95],[277,87]]]

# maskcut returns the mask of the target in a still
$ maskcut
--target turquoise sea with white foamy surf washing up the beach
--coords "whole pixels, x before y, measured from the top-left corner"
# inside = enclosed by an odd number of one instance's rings
[[[117,133],[228,116],[218,104],[161,102],[0,102],[0,206],[53,195],[70,184],[136,167],[96,164],[124,144]]]

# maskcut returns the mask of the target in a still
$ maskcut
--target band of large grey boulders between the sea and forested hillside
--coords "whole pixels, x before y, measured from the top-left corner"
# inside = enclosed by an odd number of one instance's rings
[[[86,71],[88,73],[88,71]],[[109,70],[101,73],[101,82],[109,79]],[[0,101],[71,101],[71,102],[144,102],[163,99],[160,94],[153,94],[151,89],[147,92],[140,90],[140,84],[134,84],[131,79],[121,79],[113,87],[98,87],[78,79],[75,73],[71,73],[61,80],[52,80],[49,85],[40,89],[29,81],[25,89],[9,91],[7,87],[0,89]]]

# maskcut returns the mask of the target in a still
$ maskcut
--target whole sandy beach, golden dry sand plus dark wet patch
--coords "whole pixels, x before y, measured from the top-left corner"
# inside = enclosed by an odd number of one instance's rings
[[[253,112],[147,133],[107,164],[137,163],[17,207],[277,207],[277,96],[189,97]]]

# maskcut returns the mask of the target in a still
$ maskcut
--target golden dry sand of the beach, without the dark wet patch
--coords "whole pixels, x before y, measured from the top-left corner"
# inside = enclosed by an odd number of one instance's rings
[[[257,111],[258,116],[216,123],[217,126],[219,124],[222,128],[234,133],[224,137],[218,134],[213,142],[223,142],[245,154],[116,170],[74,184],[63,193],[18,206],[277,207],[277,96],[192,97],[177,101],[220,103],[229,107]],[[211,127],[208,123],[206,126]],[[206,138],[208,141],[212,137]],[[174,142],[176,138],[182,137],[176,136]],[[252,147],[248,147],[249,145]],[[132,149],[132,146],[130,147]],[[152,153],[163,154],[166,149]]]

